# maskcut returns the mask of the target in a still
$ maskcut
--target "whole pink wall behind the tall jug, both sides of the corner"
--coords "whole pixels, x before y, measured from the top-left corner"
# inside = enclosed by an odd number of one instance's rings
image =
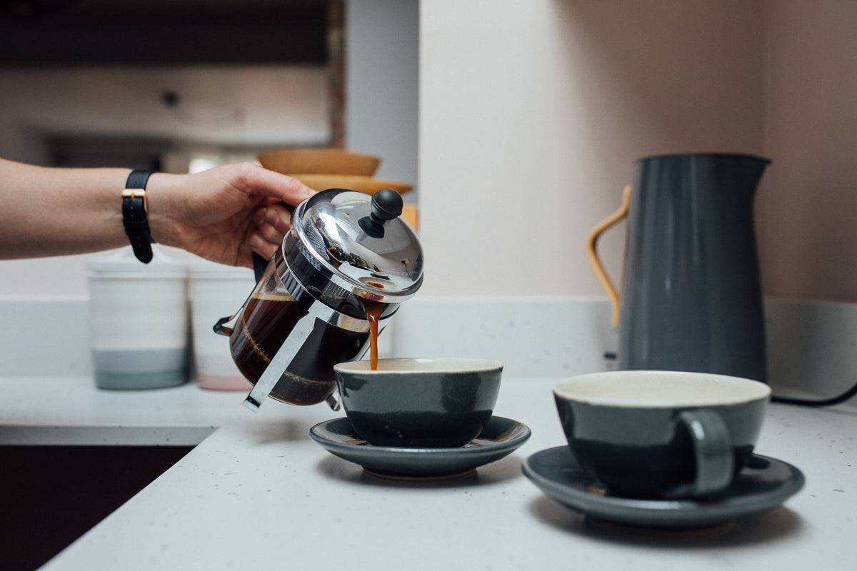
[[[857,300],[857,2],[525,4],[422,4],[426,294],[602,295],[584,241],[633,160],[719,151],[773,159],[764,293]]]

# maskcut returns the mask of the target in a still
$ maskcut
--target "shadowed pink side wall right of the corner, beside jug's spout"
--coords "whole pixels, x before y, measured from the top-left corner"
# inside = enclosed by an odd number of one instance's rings
[[[857,301],[857,3],[769,1],[764,23],[764,290]]]

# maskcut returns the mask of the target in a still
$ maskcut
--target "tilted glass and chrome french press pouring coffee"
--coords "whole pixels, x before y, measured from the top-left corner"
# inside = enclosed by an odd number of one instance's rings
[[[333,366],[369,348],[367,308],[380,332],[423,283],[423,249],[399,217],[402,202],[392,188],[332,188],[297,205],[282,247],[257,264],[248,299],[214,325],[254,385],[246,407],[271,396],[339,408]]]

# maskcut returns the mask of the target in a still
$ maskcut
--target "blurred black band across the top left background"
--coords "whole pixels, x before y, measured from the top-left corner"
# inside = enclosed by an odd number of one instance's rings
[[[327,62],[327,2],[0,3],[0,66]]]

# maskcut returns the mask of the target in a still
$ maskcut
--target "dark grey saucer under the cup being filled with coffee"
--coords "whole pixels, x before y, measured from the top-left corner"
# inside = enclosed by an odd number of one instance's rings
[[[379,476],[437,479],[470,473],[511,454],[530,438],[530,428],[492,416],[482,433],[461,448],[393,448],[367,443],[357,436],[348,419],[339,418],[313,426],[309,437],[331,454]]]

